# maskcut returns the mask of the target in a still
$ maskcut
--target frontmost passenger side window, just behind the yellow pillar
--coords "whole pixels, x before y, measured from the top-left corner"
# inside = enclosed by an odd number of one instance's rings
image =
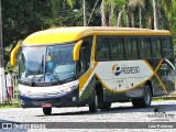
[[[97,37],[96,61],[110,61],[108,37]]]

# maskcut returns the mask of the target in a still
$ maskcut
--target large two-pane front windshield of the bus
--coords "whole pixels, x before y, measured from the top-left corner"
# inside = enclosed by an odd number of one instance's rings
[[[74,44],[22,48],[20,80],[28,82],[67,81],[75,77]]]

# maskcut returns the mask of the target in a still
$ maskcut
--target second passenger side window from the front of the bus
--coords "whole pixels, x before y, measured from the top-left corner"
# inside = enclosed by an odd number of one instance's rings
[[[122,37],[110,37],[109,43],[112,61],[124,59]]]

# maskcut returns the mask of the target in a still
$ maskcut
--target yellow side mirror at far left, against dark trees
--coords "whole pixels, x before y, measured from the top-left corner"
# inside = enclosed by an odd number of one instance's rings
[[[10,54],[10,64],[15,66],[15,55],[21,50],[21,45],[16,45]]]

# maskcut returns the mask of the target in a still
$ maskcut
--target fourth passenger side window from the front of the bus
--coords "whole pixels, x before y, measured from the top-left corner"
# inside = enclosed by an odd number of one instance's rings
[[[139,37],[139,51],[141,58],[152,58],[151,53],[151,38],[150,37]]]

